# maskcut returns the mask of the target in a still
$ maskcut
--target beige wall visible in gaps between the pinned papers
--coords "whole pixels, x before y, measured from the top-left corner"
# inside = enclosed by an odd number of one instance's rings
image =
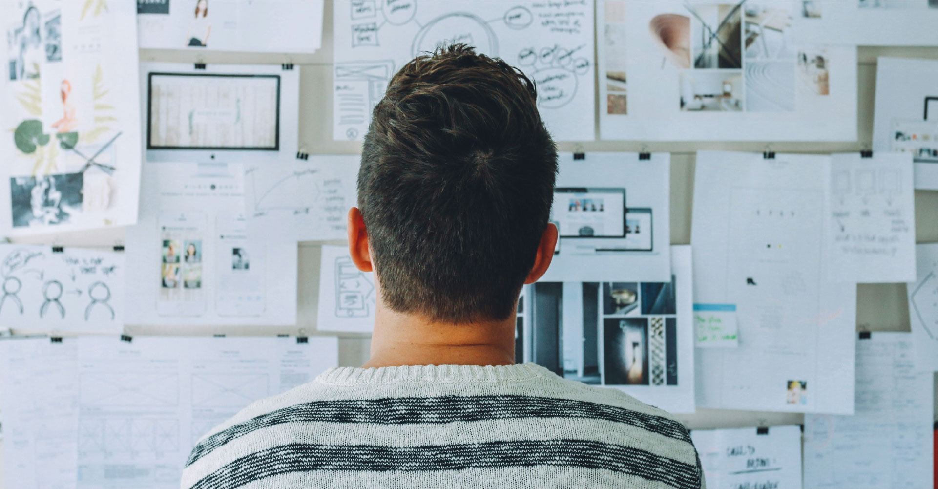
[[[356,154],[360,144],[348,141],[332,141],[332,6],[326,2],[323,48],[314,54],[284,56],[266,53],[192,53],[164,50],[141,50],[141,61],[174,61],[213,63],[268,63],[280,65],[293,62],[301,68],[300,76],[300,121],[299,142],[301,148],[312,154]],[[858,130],[855,143],[779,143],[771,144],[776,152],[829,153],[857,151],[869,143],[872,137],[873,90],[876,82],[877,56],[920,57],[935,59],[935,48],[873,48],[861,47],[858,53]],[[597,90],[598,93],[598,90]],[[598,122],[597,122],[598,126]],[[690,242],[690,211],[692,205],[695,152],[699,149],[758,151],[765,143],[649,143],[595,141],[582,144],[565,143],[562,151],[670,151],[671,160],[671,241],[672,244]],[[915,240],[932,242],[938,240],[938,194],[935,191],[915,191]],[[19,239],[23,243],[59,244],[63,246],[94,246],[110,248],[123,242],[120,229],[34,237]],[[332,242],[342,244],[341,242]],[[296,328],[167,328],[133,325],[127,328],[131,335],[145,334],[307,334],[316,332],[316,307],[319,283],[319,255],[321,242],[299,244],[299,289]],[[904,284],[863,284],[857,289],[857,329],[909,330],[909,312]],[[339,361],[341,365],[360,365],[368,358],[370,346],[367,334],[349,333],[340,335]],[[756,426],[800,423],[799,414],[764,413],[755,411],[728,411],[701,409],[693,415],[682,417],[690,428],[717,428],[731,426]],[[0,466],[2,470],[2,466]],[[2,480],[2,479],[0,479]]]

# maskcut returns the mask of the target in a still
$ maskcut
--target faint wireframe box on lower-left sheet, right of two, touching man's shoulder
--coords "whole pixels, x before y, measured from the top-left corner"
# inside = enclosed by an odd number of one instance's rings
[[[270,395],[267,374],[192,374],[192,407],[245,405]]]

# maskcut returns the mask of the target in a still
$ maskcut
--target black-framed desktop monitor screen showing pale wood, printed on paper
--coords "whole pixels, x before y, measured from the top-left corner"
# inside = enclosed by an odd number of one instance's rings
[[[280,150],[280,75],[151,72],[147,149]]]

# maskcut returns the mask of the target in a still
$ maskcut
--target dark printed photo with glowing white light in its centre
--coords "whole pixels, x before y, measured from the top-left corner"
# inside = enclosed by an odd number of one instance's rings
[[[648,318],[603,320],[606,385],[649,385]]]

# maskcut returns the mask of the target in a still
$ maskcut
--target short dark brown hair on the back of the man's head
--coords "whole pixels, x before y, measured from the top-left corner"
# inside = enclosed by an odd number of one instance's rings
[[[374,108],[358,174],[384,304],[441,322],[506,318],[556,172],[521,71],[464,44],[401,68]]]

